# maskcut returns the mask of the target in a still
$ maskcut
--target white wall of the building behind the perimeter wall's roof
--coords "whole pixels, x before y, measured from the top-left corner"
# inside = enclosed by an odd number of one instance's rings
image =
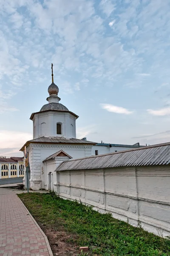
[[[104,145],[94,145],[91,150],[91,155],[95,156],[95,150],[98,150],[98,154],[108,154],[108,153],[113,153],[115,151],[123,151],[123,150],[128,150],[128,149],[133,149],[132,147],[116,147],[113,146],[109,148],[109,146],[104,146]]]

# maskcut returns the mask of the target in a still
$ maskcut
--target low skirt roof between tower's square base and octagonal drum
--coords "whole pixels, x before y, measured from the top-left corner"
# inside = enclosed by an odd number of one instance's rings
[[[28,140],[25,145],[28,146],[30,143],[89,144],[89,145],[96,144],[95,142],[91,142],[88,140],[79,140],[75,138],[65,139],[65,138],[54,138],[54,137],[53,138],[40,137],[34,140]],[[24,150],[25,145],[23,145],[20,151]]]

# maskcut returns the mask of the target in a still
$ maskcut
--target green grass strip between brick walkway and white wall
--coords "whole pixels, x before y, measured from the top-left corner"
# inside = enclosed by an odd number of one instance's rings
[[[61,227],[77,234],[76,244],[88,246],[88,255],[170,256],[170,239],[163,239],[142,228],[100,214],[76,201],[51,194],[18,195],[41,227]]]

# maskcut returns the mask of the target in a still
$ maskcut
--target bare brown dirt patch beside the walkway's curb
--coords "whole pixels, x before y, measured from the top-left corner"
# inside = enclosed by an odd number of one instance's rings
[[[79,247],[74,242],[76,236],[69,235],[64,230],[55,231],[50,228],[44,228],[44,233],[48,237],[54,256],[76,256],[79,254]]]

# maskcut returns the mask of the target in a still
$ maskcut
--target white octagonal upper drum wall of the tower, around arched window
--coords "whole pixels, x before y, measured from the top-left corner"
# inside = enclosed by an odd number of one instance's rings
[[[62,123],[62,134],[57,134],[57,122]],[[34,115],[33,137],[76,138],[76,118],[68,112],[48,111]]]

